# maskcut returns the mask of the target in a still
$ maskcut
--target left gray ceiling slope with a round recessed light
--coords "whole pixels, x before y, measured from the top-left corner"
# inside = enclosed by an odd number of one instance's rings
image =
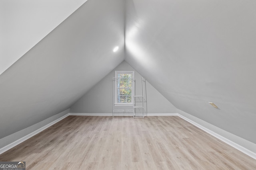
[[[0,138],[68,109],[123,60],[124,0],[88,0],[0,75]]]

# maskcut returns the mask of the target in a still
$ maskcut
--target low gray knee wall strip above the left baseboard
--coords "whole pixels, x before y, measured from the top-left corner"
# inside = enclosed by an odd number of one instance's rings
[[[3,147],[6,147],[7,145],[22,139],[23,137],[25,137],[26,135],[29,135],[30,133],[33,133],[34,131],[44,127],[45,125],[48,125],[49,123],[52,123],[53,121],[56,121],[57,119],[59,119],[60,117],[67,115],[69,113],[69,109],[66,109],[56,115],[53,115],[52,117],[49,117],[43,121],[40,121],[30,127],[27,127],[25,129],[22,129],[16,133],[13,133],[11,135],[8,135],[2,139],[0,139],[0,149]],[[13,147],[13,146],[12,146]],[[1,153],[1,152],[0,152]]]

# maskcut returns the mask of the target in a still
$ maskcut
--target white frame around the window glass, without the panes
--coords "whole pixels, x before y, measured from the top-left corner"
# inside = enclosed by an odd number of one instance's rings
[[[115,77],[117,77],[117,74],[132,74],[132,101],[131,103],[118,103],[117,102],[117,81],[115,81],[115,105],[118,106],[128,106],[128,105],[133,105],[133,96],[134,96],[134,71],[119,71],[119,70],[115,70]]]

